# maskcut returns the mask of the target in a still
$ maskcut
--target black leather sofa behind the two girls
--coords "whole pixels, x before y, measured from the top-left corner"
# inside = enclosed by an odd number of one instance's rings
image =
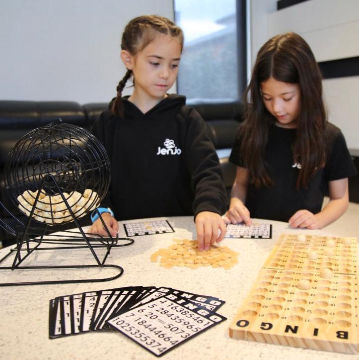
[[[9,201],[4,186],[4,164],[7,155],[18,140],[29,131],[44,126],[58,118],[63,122],[90,129],[93,122],[108,103],[87,103],[80,105],[73,101],[17,101],[0,100],[0,201],[12,214],[25,220]],[[229,193],[235,176],[235,167],[228,162],[228,156],[242,121],[242,106],[239,102],[193,104],[208,125],[223,169],[224,184]],[[4,222],[10,216],[0,206],[0,217]],[[89,223],[88,216],[81,219],[81,225]],[[10,224],[13,226],[13,224]],[[71,224],[70,224],[71,225]],[[73,225],[72,225],[73,226]],[[14,238],[0,228],[0,240],[4,246],[14,243]]]

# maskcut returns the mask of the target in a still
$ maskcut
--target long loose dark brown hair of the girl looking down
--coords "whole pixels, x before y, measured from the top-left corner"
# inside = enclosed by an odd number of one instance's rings
[[[244,93],[245,121],[239,131],[240,155],[249,170],[249,182],[256,187],[273,184],[264,162],[265,147],[275,117],[266,109],[261,83],[269,78],[298,84],[300,110],[293,161],[301,164],[296,187],[306,187],[325,164],[324,130],[327,114],[322,97],[322,76],[306,41],[288,32],[268,40],[259,50],[251,81]]]

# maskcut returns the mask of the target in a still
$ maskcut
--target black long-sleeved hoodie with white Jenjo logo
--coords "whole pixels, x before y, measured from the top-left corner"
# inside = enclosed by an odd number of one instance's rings
[[[124,116],[103,111],[92,133],[111,163],[110,189],[101,206],[117,220],[225,212],[226,195],[204,120],[170,94],[145,114],[128,96]]]

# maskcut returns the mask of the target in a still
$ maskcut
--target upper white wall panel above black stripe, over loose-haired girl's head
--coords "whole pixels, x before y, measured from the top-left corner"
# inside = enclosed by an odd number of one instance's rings
[[[317,61],[359,55],[359,1],[310,0],[268,15],[268,35],[294,31],[312,48]]]

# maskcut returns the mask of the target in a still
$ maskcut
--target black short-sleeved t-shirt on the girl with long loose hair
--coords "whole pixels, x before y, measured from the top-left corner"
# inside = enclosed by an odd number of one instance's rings
[[[328,123],[325,132],[327,159],[325,167],[310,180],[307,188],[296,189],[298,165],[293,164],[292,147],[296,129],[273,125],[265,149],[265,164],[273,185],[256,188],[248,184],[245,205],[253,218],[288,221],[298,210],[320,212],[328,182],[356,174],[344,136],[339,128]],[[229,161],[245,167],[240,156],[241,140],[236,139]],[[300,166],[300,165],[299,165]]]

